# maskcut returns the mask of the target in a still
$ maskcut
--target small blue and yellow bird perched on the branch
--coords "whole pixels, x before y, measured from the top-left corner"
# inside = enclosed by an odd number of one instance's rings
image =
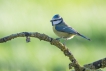
[[[62,17],[59,16],[59,14],[56,14],[53,16],[51,20],[53,31],[54,33],[59,36],[60,38],[65,39],[71,39],[75,35],[81,36],[87,40],[90,40],[89,38],[83,36],[82,34],[78,33],[76,30],[74,30],[72,27],[68,26]]]

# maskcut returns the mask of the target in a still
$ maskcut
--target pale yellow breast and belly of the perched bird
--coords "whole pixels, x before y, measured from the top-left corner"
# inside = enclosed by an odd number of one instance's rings
[[[69,39],[71,39],[71,38],[74,37],[74,34],[57,31],[57,30],[55,29],[55,26],[53,26],[53,31],[54,31],[54,33],[55,33],[57,36],[59,36],[59,37],[61,37],[61,38],[69,38]]]

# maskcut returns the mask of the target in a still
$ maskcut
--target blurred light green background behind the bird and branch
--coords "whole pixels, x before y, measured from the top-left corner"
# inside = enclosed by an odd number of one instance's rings
[[[39,32],[56,38],[50,23],[54,14],[91,38],[76,36],[66,43],[81,65],[106,57],[106,0],[0,0],[0,37]],[[69,63],[57,47],[36,38],[0,44],[0,71],[69,71]]]

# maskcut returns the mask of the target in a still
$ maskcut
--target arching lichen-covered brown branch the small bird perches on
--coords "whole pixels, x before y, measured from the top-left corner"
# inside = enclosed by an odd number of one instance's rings
[[[12,35],[0,38],[0,43],[7,42],[17,37],[26,37],[26,42],[30,42],[30,37],[35,37],[40,40],[50,42],[51,45],[58,47],[64,53],[65,56],[69,57],[69,60],[71,61],[71,63],[69,64],[69,69],[74,67],[75,71],[94,71],[94,70],[98,71],[97,69],[106,67],[106,58],[81,67],[78,64],[75,57],[73,56],[73,54],[69,51],[69,49],[66,46],[64,46],[58,40],[53,39],[45,34],[40,34],[38,32],[21,32],[17,34],[12,34]]]

